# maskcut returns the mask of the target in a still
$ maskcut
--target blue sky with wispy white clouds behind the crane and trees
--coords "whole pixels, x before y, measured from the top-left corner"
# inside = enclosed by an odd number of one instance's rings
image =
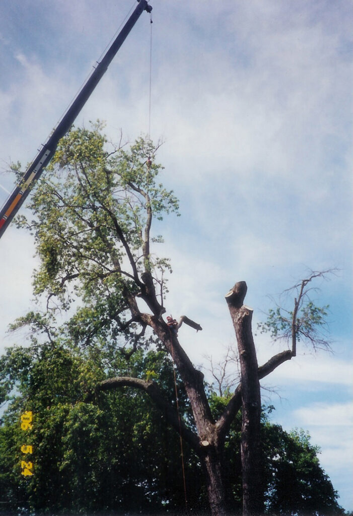
[[[0,204],[10,162],[36,155],[135,2],[0,0]],[[330,305],[333,353],[298,347],[263,381],[285,430],[308,430],[321,465],[353,510],[351,0],[153,0],[76,125],[106,121],[127,141],[163,145],[163,182],[181,217],[156,227],[169,256],[167,312],[202,332],[180,342],[207,374],[235,337],[224,299],[245,280],[258,321],[308,270],[337,269],[313,300]],[[150,29],[152,75],[150,77]],[[151,81],[150,81],[151,78]],[[151,103],[149,104],[149,83]],[[0,241],[0,352],[8,324],[33,307],[32,237]],[[288,300],[290,303],[290,299]],[[259,364],[285,343],[255,335]]]

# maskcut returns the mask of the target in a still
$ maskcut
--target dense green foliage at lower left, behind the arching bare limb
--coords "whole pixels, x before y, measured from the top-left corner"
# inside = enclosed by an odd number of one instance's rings
[[[108,353],[108,351],[106,351]],[[111,375],[153,374],[172,404],[174,375],[162,351],[136,351],[130,358],[96,349],[69,349],[62,345],[12,348],[2,358],[4,390],[16,388],[0,427],[3,463],[0,510],[16,510],[20,501],[28,510],[55,513],[162,510],[183,506],[180,443],[174,430],[147,396],[131,389],[92,392]],[[11,376],[11,385],[7,383]],[[187,397],[178,379],[179,407],[190,417]],[[33,428],[20,429],[24,410],[33,413]],[[21,445],[33,446],[35,474],[21,476]],[[184,446],[186,475],[193,497],[199,498],[200,475],[194,478],[196,458]]]

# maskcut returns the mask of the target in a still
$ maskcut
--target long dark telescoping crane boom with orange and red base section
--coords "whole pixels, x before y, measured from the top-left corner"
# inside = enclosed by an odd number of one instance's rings
[[[33,159],[32,163],[23,176],[22,182],[14,188],[8,200],[2,207],[0,212],[0,237],[3,235],[11,220],[19,211],[21,205],[24,203],[30,191],[30,186],[33,184],[33,182],[37,181],[43,171],[43,168],[48,165],[54,156],[60,138],[62,138],[69,131],[77,115],[81,111],[82,107],[86,104],[89,96],[97,86],[100,78],[102,78],[106,72],[108,66],[125,41],[130,30],[140,18],[142,11],[152,11],[152,7],[148,5],[146,0],[137,1],[139,2],[138,6],[132,12],[124,27],[112,42],[102,60],[100,60],[97,63],[97,66],[94,67],[91,75],[88,77],[86,83],[82,86],[76,95],[76,98],[70,107],[66,110],[53,133],[43,144],[35,159]]]

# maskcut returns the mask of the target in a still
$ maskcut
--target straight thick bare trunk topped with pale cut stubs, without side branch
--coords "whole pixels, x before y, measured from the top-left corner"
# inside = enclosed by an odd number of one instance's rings
[[[261,395],[251,332],[253,310],[243,305],[246,290],[244,281],[236,283],[226,295],[226,300],[237,335],[241,367],[243,516],[260,516],[264,508],[261,481]]]

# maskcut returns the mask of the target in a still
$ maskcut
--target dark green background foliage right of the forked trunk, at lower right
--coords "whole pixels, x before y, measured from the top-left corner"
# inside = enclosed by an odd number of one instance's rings
[[[227,405],[230,395],[210,396],[215,417]],[[334,516],[344,514],[337,503],[337,491],[320,466],[320,448],[310,442],[308,432],[288,433],[272,424],[269,414],[274,407],[262,408],[261,441],[263,448],[262,479],[266,514],[271,516]],[[241,412],[233,421],[225,443],[227,461],[224,464],[229,506],[232,512],[242,507],[241,477]]]

